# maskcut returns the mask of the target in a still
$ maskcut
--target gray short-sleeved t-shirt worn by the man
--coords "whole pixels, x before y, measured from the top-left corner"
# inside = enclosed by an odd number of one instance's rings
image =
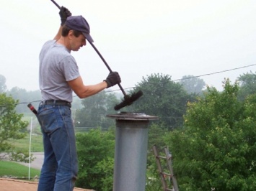
[[[70,50],[56,43],[45,42],[40,52],[39,85],[43,101],[62,100],[72,102],[73,90],[67,81],[79,77],[79,68]]]

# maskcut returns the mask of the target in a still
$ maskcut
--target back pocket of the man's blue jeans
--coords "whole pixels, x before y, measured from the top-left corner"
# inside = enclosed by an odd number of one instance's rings
[[[45,109],[38,113],[37,118],[42,130],[47,134],[52,134],[53,131],[59,128],[56,113],[53,108]]]

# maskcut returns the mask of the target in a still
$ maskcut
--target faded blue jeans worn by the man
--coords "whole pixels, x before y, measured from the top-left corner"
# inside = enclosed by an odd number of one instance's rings
[[[78,173],[71,109],[41,104],[37,119],[45,152],[37,191],[71,191]]]

